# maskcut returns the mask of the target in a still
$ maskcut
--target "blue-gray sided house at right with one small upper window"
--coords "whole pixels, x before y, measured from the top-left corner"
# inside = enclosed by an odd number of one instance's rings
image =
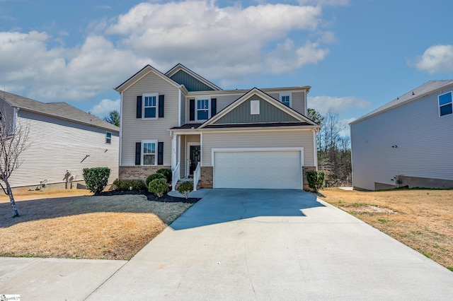
[[[350,123],[355,189],[453,188],[452,90],[428,81]]]

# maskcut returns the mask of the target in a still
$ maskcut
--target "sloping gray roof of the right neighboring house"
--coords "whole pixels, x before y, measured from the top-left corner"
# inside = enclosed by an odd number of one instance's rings
[[[376,110],[369,112],[368,114],[363,115],[359,119],[354,120],[350,124],[355,124],[356,122],[360,122],[362,119],[367,119],[368,117],[372,117],[376,114],[381,112],[385,112],[390,110],[392,107],[398,107],[399,105],[403,105],[406,102],[411,102],[413,100],[417,100],[419,98],[423,98],[426,95],[435,92],[436,90],[442,90],[442,88],[447,87],[448,85],[453,85],[453,80],[442,80],[442,81],[428,81],[423,85],[409,91],[406,94],[401,95],[400,97],[392,100],[391,102],[387,102],[382,107],[378,107]]]

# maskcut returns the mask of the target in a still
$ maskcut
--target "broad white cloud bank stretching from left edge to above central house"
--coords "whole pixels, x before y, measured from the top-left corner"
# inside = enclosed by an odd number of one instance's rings
[[[315,2],[144,2],[112,20],[93,20],[75,47],[64,46],[64,32],[0,32],[0,85],[40,101],[84,101],[146,64],[166,71],[182,62],[230,84],[257,73],[287,73],[322,61],[326,44],[335,41],[323,30],[321,6],[347,1]]]

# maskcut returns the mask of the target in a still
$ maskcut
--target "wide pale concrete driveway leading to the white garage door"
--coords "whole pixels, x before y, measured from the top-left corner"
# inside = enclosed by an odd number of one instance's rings
[[[88,300],[451,300],[452,295],[451,271],[311,194],[214,189]]]

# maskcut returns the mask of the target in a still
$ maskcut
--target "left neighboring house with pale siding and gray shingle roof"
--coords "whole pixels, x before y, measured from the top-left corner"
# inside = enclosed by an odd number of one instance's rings
[[[66,102],[44,103],[0,91],[0,113],[28,128],[23,164],[9,178],[11,187],[76,188],[86,167],[110,167],[118,177],[119,128]]]

